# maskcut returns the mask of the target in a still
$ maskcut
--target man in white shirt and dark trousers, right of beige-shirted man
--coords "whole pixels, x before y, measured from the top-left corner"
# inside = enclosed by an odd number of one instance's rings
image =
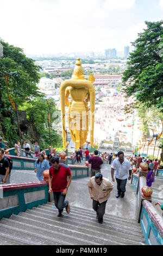
[[[117,155],[118,155],[117,159],[115,159],[112,162],[111,178],[112,178],[112,181],[115,181],[114,171],[116,169],[115,177],[117,181],[117,191],[118,191],[118,193],[116,194],[116,198],[120,197],[120,195],[121,195],[121,198],[123,198],[124,193],[126,192],[127,179],[128,180],[131,179],[132,168],[131,168],[130,162],[124,158],[124,153],[122,151],[119,151]]]

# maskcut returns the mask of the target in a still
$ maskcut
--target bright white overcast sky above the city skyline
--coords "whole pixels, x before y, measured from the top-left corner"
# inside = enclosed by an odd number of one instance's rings
[[[26,54],[123,51],[163,0],[0,0],[0,38]]]

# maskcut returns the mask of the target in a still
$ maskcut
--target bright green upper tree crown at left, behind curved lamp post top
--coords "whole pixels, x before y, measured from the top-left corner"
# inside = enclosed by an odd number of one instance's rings
[[[0,58],[0,105],[2,106],[7,100],[7,94],[2,97],[2,94],[7,92],[5,74],[12,71],[17,71],[17,74],[9,76],[8,88],[11,99],[16,101],[17,105],[30,101],[33,96],[39,96],[36,83],[40,79],[37,73],[40,67],[34,64],[33,59],[27,58],[21,48],[3,41],[1,44],[3,45],[3,57]]]

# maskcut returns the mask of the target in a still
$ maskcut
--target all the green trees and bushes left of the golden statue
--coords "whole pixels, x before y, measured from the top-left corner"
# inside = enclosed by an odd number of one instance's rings
[[[27,58],[23,50],[18,47],[9,45],[1,41],[3,45],[3,57],[0,58],[0,125],[2,126],[2,133],[5,140],[8,142],[8,147],[13,147],[16,140],[20,140],[18,136],[18,129],[14,123],[16,113],[11,106],[8,98],[7,88],[5,85],[5,75],[10,72],[17,71],[17,74],[9,76],[8,91],[11,99],[17,103],[17,108],[27,111],[27,118],[31,121],[36,130],[41,133],[41,147],[44,149],[48,142],[48,103],[43,99],[45,94],[41,94],[36,86],[39,83],[40,66],[36,66],[33,59]],[[49,99],[51,106],[51,122],[52,114],[56,111],[55,102]],[[52,142],[56,145],[61,144],[61,137],[51,129]],[[27,139],[22,135],[23,139]],[[33,138],[28,138],[29,142]],[[43,144],[44,143],[44,144]]]

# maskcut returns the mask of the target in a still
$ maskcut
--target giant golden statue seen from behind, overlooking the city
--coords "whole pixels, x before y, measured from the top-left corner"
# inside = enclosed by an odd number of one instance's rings
[[[91,74],[88,80],[84,77],[82,62],[78,58],[71,79],[65,80],[60,87],[60,105],[62,117],[62,138],[66,148],[65,115],[68,115],[68,126],[76,149],[83,147],[90,128],[90,144],[93,147],[96,93],[93,87],[95,77]],[[68,97],[71,97],[70,102]],[[88,102],[90,101],[90,109]],[[65,114],[65,104],[68,113]]]

